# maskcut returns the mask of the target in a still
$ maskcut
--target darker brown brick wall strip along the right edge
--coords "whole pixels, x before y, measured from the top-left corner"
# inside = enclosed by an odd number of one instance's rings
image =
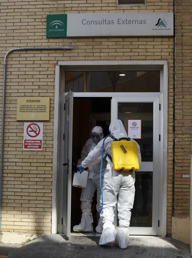
[[[191,1],[175,1],[175,189],[173,216],[189,217],[192,155]]]

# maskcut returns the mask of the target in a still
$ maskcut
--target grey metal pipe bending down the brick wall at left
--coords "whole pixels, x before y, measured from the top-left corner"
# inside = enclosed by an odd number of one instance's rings
[[[12,48],[5,54],[4,67],[3,67],[3,101],[2,101],[2,126],[1,126],[1,163],[0,163],[0,216],[2,205],[2,175],[3,175],[3,138],[4,138],[4,114],[5,114],[5,85],[6,85],[6,62],[7,56],[13,51],[22,50],[73,50],[74,47],[37,47],[37,48]],[[1,230],[1,217],[0,217],[0,230]]]

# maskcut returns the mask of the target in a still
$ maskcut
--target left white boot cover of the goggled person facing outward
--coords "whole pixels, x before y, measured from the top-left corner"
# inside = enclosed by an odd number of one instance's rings
[[[83,213],[79,225],[73,227],[75,232],[93,232],[93,216],[92,213]]]

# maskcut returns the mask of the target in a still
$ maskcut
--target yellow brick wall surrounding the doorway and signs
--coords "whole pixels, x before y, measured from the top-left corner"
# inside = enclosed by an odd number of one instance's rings
[[[55,64],[59,60],[168,60],[168,209],[171,232],[173,174],[173,37],[46,38],[46,15],[92,12],[172,12],[173,1],[116,6],[116,0],[5,1],[0,3],[0,81],[3,59],[15,47],[75,46],[76,50],[15,51],[7,58],[3,157],[2,230],[51,230]],[[2,96],[2,93],[1,93]],[[17,96],[50,96],[43,150],[23,151],[23,121],[16,121]],[[2,97],[1,97],[2,99]]]

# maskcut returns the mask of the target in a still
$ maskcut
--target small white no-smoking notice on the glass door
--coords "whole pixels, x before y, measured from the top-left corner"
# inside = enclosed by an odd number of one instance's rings
[[[141,139],[141,119],[128,119],[128,137]]]

